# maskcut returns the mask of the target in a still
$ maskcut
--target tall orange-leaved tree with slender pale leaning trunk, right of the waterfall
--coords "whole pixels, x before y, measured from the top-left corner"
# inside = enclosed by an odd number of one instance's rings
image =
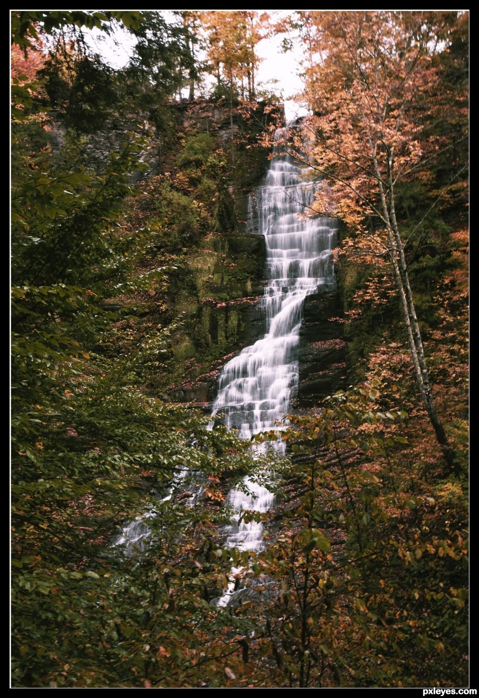
[[[314,56],[305,71],[304,92],[314,116],[307,121],[311,139],[297,150],[330,181],[318,193],[314,212],[337,216],[361,235],[374,235],[376,242],[384,233],[385,244],[376,253],[392,265],[422,403],[448,466],[455,468],[434,405],[409,279],[410,241],[404,242],[398,210],[406,184],[427,186],[432,163],[445,154],[456,154],[453,170],[425,217],[466,167],[455,147],[466,138],[464,107],[456,108],[455,119],[443,110],[450,86],[443,82],[441,66],[460,18],[421,12],[307,11],[300,16]]]

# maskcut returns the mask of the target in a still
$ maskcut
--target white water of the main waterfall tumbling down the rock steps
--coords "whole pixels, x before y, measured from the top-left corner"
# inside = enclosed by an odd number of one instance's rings
[[[277,130],[277,146],[265,185],[256,188],[250,198],[250,224],[256,207],[258,233],[266,242],[267,284],[261,301],[266,334],[224,366],[213,405],[213,414],[223,413],[228,428],[237,429],[244,439],[277,428],[288,412],[298,384],[304,299],[318,285],[334,283],[332,248],[337,224],[330,218],[304,216],[318,183],[307,181],[308,171],[281,152],[286,135],[286,129]],[[284,452],[281,439],[270,444],[277,452]],[[265,548],[263,524],[242,521],[238,526],[239,512],[267,512],[274,496],[248,478],[244,483],[251,494],[233,490],[228,496],[228,504],[237,514],[226,531],[226,546],[258,552]],[[237,572],[233,570],[233,574]],[[228,604],[234,586],[232,582],[219,605]]]

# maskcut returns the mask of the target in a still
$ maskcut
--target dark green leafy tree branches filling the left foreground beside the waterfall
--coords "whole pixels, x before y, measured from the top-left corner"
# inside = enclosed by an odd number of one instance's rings
[[[69,34],[77,15],[29,17]],[[16,20],[28,59],[36,24]],[[229,518],[218,483],[224,470],[242,480],[251,461],[224,428],[145,395],[140,371],[165,355],[174,327],[143,333],[125,355],[117,325],[138,308],[111,304],[172,272],[138,272],[149,232],[124,218],[152,132],[125,131],[95,171],[39,154],[32,124],[43,135],[49,124],[31,73],[13,90],[13,683],[174,685],[195,680],[205,660],[222,677],[231,649],[209,600],[228,584],[231,558],[246,564],[247,554],[214,539]],[[147,515],[149,551],[113,547],[126,522]]]

